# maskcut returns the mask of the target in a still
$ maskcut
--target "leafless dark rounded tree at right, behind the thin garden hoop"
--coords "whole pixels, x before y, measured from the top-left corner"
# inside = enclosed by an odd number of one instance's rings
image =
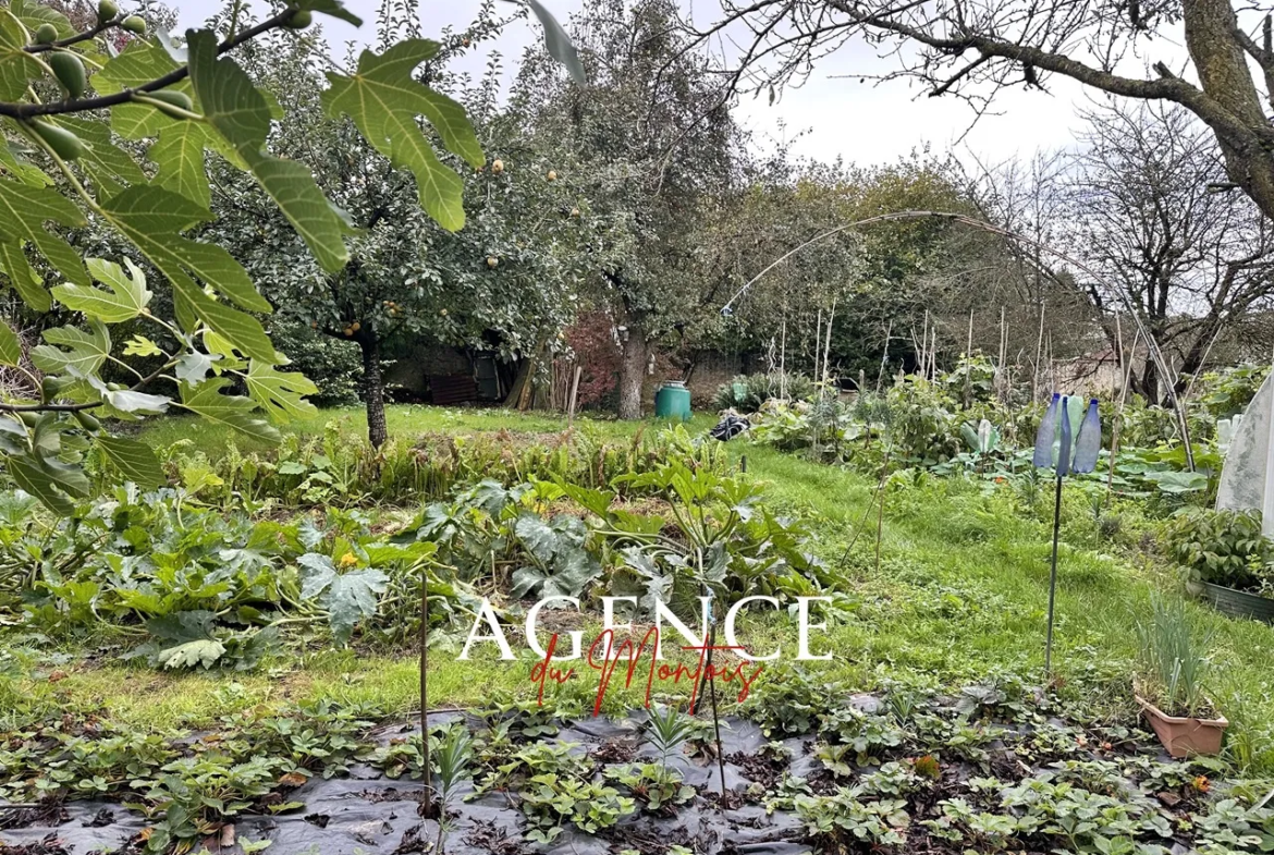
[[[1184,389],[1182,375],[1199,371],[1227,325],[1274,306],[1274,222],[1246,198],[1212,189],[1222,155],[1184,108],[1112,103],[1087,119],[1069,178],[1074,254],[1175,353],[1176,377],[1161,377],[1148,359],[1138,380],[1157,401],[1164,384]],[[1124,305],[1102,283],[1084,287],[1098,310]]]

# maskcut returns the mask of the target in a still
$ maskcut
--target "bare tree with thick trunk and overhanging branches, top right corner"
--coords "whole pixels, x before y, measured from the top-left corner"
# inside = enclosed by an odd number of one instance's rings
[[[1047,85],[1064,75],[1093,89],[1190,111],[1214,135],[1233,186],[1274,218],[1274,34],[1270,14],[1232,0],[722,0],[725,14],[699,40],[739,46],[736,84],[799,82],[828,51],[856,36],[882,46],[894,71],[934,96],[978,110],[1003,87]],[[1180,27],[1180,29],[1178,29]],[[1134,57],[1181,32],[1186,73]]]

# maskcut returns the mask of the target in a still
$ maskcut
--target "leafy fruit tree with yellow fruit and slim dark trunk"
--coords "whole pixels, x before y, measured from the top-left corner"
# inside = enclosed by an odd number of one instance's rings
[[[414,9],[414,6],[413,6]],[[383,37],[412,38],[414,13],[382,19]],[[422,66],[420,79],[451,92],[473,116],[478,168],[451,163],[460,173],[464,229],[440,228],[417,201],[417,186],[326,108],[322,68],[329,55],[320,37],[264,43],[247,57],[248,70],[285,107],[276,129],[279,150],[317,164],[316,178],[357,232],[350,257],[322,270],[303,252],[268,200],[228,169],[218,169],[213,199],[223,212],[218,237],[255,273],[278,306],[284,329],[308,327],[358,348],[361,396],[368,440],[387,438],[383,359],[403,341],[437,341],[530,356],[573,312],[577,291],[569,265],[577,219],[567,180],[520,141],[516,120],[497,107],[501,68],[492,61],[475,85],[448,73],[459,54],[498,32],[492,9],[462,33],[445,33]],[[406,29],[408,32],[399,32]],[[456,107],[459,108],[459,107]]]

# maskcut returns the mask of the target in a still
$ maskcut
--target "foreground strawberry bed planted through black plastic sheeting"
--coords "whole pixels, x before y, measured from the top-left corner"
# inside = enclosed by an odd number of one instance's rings
[[[447,787],[442,850],[1152,855],[1274,846],[1274,809],[1252,807],[1261,794],[1242,782],[1213,782],[1215,763],[1172,761],[1135,728],[1066,721],[1055,698],[1017,682],[958,697],[850,694],[799,674],[769,688],[768,700],[748,705],[748,719],[724,721],[724,809],[716,742],[702,719],[682,717],[688,738],[669,752],[646,710],[557,716],[508,702],[431,714],[440,744],[450,729],[474,740]],[[140,743],[92,721],[5,734],[3,791],[10,804],[38,807],[0,807],[0,852],[143,852],[178,837],[214,852],[266,844],[271,855],[437,851],[437,822],[418,815],[412,780],[418,724],[372,726],[364,712],[242,716]]]

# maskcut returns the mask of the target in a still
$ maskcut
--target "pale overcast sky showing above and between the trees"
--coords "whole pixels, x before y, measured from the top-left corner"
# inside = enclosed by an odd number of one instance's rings
[[[183,27],[203,22],[220,8],[220,0],[178,1]],[[543,1],[563,23],[581,5],[581,0]],[[691,11],[698,23],[712,20],[720,9],[717,0],[687,3],[692,4]],[[362,31],[320,15],[329,40],[341,45],[371,38],[378,0],[345,0],[345,5],[364,19]],[[422,32],[428,37],[448,24],[466,25],[476,17],[480,0],[422,0],[420,5]],[[501,8],[497,11],[512,9],[505,3],[496,5]],[[363,33],[367,36],[361,38]],[[496,50],[505,55],[506,66],[511,68],[531,40],[541,34],[538,24],[519,22],[501,36]],[[343,56],[344,47],[335,48],[335,54]],[[1180,68],[1184,57],[1180,42],[1159,40],[1143,56],[1130,60],[1124,70],[1142,75],[1145,66],[1158,60]],[[466,64],[474,74],[480,74],[484,62],[485,56],[473,56]],[[1054,76],[1047,84],[1049,92],[1020,88],[1001,92],[994,107],[999,115],[984,116],[968,131],[973,115],[962,101],[929,98],[905,80],[873,85],[870,82],[860,84],[855,76],[889,68],[889,60],[878,60],[873,48],[851,43],[823,59],[804,87],[784,92],[773,106],[764,97],[744,98],[736,116],[757,135],[795,139],[795,154],[819,161],[841,157],[852,163],[885,163],[926,144],[943,153],[963,138],[957,149],[962,158],[975,152],[980,158],[996,162],[1070,144],[1080,125],[1075,111],[1088,103],[1079,84]]]

